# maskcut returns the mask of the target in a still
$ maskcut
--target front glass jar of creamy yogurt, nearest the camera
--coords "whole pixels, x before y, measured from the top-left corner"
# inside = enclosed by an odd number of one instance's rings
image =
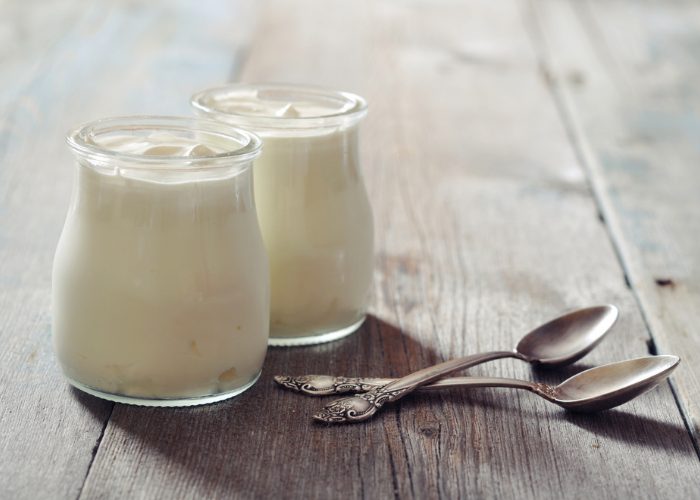
[[[147,406],[226,399],[257,380],[269,271],[254,134],[124,117],[71,132],[75,186],[53,267],[54,348],[69,382]]]

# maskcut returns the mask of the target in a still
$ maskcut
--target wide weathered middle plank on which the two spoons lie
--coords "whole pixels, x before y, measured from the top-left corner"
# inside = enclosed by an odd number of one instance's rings
[[[274,2],[242,78],[366,95],[377,219],[374,316],[335,344],[273,349],[234,401],[117,405],[83,496],[626,498],[696,496],[700,466],[668,386],[576,416],[528,394],[406,400],[366,425],[274,373],[398,375],[512,345],[564,309],[623,318],[586,363],[647,352],[648,332],[541,78],[524,2]],[[216,83],[216,82],[211,82]],[[183,96],[183,99],[186,96]],[[474,370],[560,380],[515,362]]]

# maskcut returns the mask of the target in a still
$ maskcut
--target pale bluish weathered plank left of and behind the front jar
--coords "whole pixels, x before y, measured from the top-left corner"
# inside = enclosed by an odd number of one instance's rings
[[[248,10],[0,5],[0,497],[76,498],[113,406],[70,390],[51,350],[51,261],[72,183],[66,131],[109,114],[188,114],[184,96],[231,72]]]

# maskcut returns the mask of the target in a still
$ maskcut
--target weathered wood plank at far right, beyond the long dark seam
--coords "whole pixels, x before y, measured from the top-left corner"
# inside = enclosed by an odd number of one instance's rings
[[[537,2],[553,83],[656,346],[700,433],[700,5]]]

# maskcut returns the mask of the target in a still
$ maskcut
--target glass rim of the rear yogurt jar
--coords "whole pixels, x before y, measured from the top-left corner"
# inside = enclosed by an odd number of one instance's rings
[[[248,99],[255,100],[260,98],[261,93],[287,94],[292,99],[296,96],[299,99],[313,99],[317,103],[325,102],[326,105],[335,103],[336,106],[335,108],[328,106],[327,112],[319,112],[309,116],[253,114],[222,109],[221,104],[227,102],[243,103]],[[279,102],[284,101],[280,100]],[[364,98],[351,92],[288,83],[233,83],[212,87],[194,94],[190,99],[190,104],[199,115],[214,117],[233,125],[247,126],[253,129],[282,130],[350,125],[362,119],[367,114],[368,108]],[[290,100],[289,104],[294,103]]]

